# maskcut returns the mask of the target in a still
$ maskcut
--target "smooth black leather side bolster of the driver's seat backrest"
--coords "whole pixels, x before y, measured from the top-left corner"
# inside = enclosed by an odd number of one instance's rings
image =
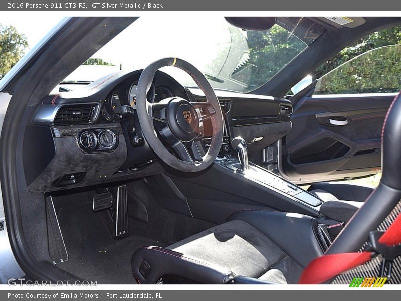
[[[401,200],[401,94],[391,103],[381,131],[382,178],[326,254],[357,252]]]

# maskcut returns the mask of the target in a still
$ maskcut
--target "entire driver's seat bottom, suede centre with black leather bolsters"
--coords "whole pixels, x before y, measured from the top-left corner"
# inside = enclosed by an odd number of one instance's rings
[[[317,226],[316,219],[301,214],[235,211],[226,223],[167,248],[139,248],[132,256],[132,272],[145,284],[225,284],[237,276],[296,284],[309,262],[323,254]]]

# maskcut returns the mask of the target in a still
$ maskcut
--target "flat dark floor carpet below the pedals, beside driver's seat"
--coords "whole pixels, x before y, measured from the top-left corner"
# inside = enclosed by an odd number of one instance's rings
[[[134,251],[141,246],[166,244],[140,235],[114,240],[104,219],[106,212],[94,213],[91,206],[86,202],[58,210],[69,259],[57,266],[98,284],[136,283],[131,273]]]

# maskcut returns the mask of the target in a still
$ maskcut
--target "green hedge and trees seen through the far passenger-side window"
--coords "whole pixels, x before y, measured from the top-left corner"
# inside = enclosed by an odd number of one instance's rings
[[[401,90],[400,59],[401,26],[374,32],[315,70],[313,78],[327,74],[319,79],[314,94],[398,92]]]

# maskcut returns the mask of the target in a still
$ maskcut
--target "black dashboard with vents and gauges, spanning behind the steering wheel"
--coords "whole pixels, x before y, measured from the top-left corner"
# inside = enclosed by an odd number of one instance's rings
[[[82,88],[49,95],[35,108],[23,138],[26,188],[48,192],[142,178],[165,166],[141,133],[136,90],[142,70],[120,71]],[[251,152],[262,150],[291,129],[291,103],[282,98],[215,91],[224,116],[219,156],[232,152],[232,137],[242,136]],[[197,88],[185,88],[157,71],[149,102],[169,97],[206,101]],[[203,146],[212,126],[204,122]]]

